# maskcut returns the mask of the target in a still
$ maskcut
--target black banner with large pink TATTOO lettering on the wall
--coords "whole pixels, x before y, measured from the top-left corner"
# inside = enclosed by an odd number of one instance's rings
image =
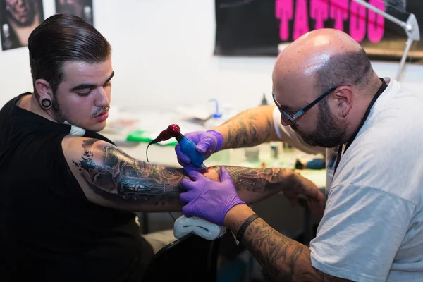
[[[413,13],[423,30],[422,0],[366,0],[407,21]],[[354,0],[215,0],[216,56],[277,56],[278,45],[323,27],[348,33],[372,60],[400,61],[405,30]],[[423,63],[423,39],[407,61]]]

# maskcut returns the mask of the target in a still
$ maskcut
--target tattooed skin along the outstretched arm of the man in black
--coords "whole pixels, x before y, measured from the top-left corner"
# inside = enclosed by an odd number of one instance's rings
[[[178,204],[180,181],[187,177],[183,168],[169,168],[137,161],[108,143],[88,139],[82,144],[84,153],[73,165],[79,169],[90,188],[105,199],[117,203],[154,205]],[[97,156],[94,161],[93,157]],[[99,159],[98,156],[101,156]],[[219,181],[219,168],[209,168],[207,177]],[[298,187],[293,171],[286,168],[246,168],[225,166],[238,195],[247,203]],[[213,171],[213,173],[210,173]],[[212,175],[213,174],[213,175]]]

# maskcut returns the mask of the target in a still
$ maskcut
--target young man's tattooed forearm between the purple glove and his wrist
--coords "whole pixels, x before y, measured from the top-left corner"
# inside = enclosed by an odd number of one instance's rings
[[[216,172],[220,167],[213,166]],[[242,166],[225,166],[225,168],[231,175],[238,196],[247,204],[254,204],[298,185],[298,182],[295,182],[295,174],[287,168],[247,168]]]

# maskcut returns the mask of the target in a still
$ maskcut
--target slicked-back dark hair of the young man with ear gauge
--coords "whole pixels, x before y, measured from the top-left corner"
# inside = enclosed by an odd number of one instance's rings
[[[44,79],[53,94],[63,82],[63,64],[67,61],[102,63],[111,54],[106,38],[77,16],[56,14],[44,20],[28,39],[32,83]],[[34,87],[35,95],[38,97]]]

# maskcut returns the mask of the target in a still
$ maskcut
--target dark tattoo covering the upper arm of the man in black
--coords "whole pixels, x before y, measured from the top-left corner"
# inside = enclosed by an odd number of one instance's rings
[[[115,202],[176,203],[182,192],[178,187],[185,177],[182,168],[167,168],[147,164],[128,156],[113,145],[105,145],[102,160],[93,161],[97,140],[85,140],[85,152],[73,161],[90,188],[102,197]]]

